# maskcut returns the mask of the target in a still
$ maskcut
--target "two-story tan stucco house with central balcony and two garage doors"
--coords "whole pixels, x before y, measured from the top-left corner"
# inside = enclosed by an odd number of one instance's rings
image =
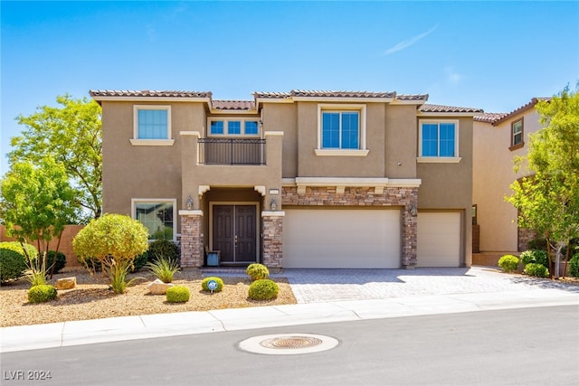
[[[222,265],[471,263],[477,108],[395,92],[90,91],[102,106],[104,212]]]

